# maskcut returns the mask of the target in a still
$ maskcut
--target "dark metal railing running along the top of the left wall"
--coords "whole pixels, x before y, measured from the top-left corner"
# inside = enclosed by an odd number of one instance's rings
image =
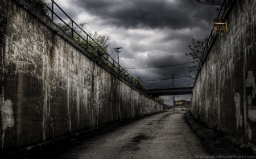
[[[133,76],[131,76],[130,74],[128,74],[128,72],[125,70],[125,68],[121,67],[120,65],[118,65],[117,62],[115,62],[115,60],[110,57],[110,55],[107,53],[106,50],[104,50],[102,48],[101,45],[99,45],[88,33],[86,33],[84,31],[84,29],[82,29],[76,22],[74,22],[74,20],[59,6],[57,5],[57,3],[54,0],[51,0],[52,4],[51,4],[51,8],[49,6],[46,6],[48,8],[48,10],[51,12],[51,20],[53,22],[53,15],[55,15],[59,20],[61,20],[61,22],[63,22],[69,29],[71,29],[71,36],[74,37],[74,35],[76,34],[77,36],[79,36],[84,42],[86,42],[86,49],[88,50],[89,47],[91,47],[93,50],[96,50],[97,53],[100,54],[100,58],[98,58],[96,55],[94,55],[97,58],[98,62],[101,62],[102,64],[108,66],[109,68],[111,68],[114,72],[117,72],[117,75],[119,75],[121,78],[125,79],[126,81],[128,81],[130,84],[134,85],[135,87],[141,89],[143,87],[143,85],[137,81],[137,79],[134,79]],[[60,18],[59,15],[56,14],[56,12],[54,12],[54,6],[56,6],[57,8],[59,8],[64,15],[67,16],[67,18],[70,20],[71,22],[71,26],[69,24],[67,24],[63,19]],[[74,28],[79,28],[81,30],[82,33],[85,33],[86,35],[86,40],[84,37],[82,37],[80,35],[80,33],[78,33]],[[100,50],[97,50],[96,48],[94,48],[94,46],[92,44],[89,43],[89,40],[92,40],[94,42],[94,44],[96,44],[98,46],[98,48],[100,48]],[[103,52],[103,54],[102,54]],[[142,90],[142,89],[141,89]],[[142,90],[144,93],[144,90]],[[161,97],[158,98],[154,98],[151,96],[150,97],[152,100],[158,101],[158,102],[162,102],[164,103],[164,99]]]

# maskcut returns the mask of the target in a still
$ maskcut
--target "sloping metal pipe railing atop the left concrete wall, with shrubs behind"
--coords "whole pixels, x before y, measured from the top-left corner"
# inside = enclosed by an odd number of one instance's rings
[[[133,78],[133,76],[131,76],[126,70],[125,68],[121,67],[120,65],[118,65],[118,63],[108,54],[108,52],[102,48],[102,46],[100,44],[98,44],[90,35],[89,33],[85,32],[84,29],[82,29],[76,22],[74,22],[74,20],[59,6],[57,5],[57,3],[54,0],[51,0],[51,6],[46,6],[50,12],[50,18],[53,22],[54,20],[54,16],[59,19],[64,25],[65,27],[68,28],[69,35],[74,38],[79,37],[79,40],[82,40],[82,45],[83,47],[85,47],[87,50],[94,50],[96,51],[96,54],[92,54],[92,56],[94,57],[94,59],[101,63],[102,65],[108,66],[110,69],[112,69],[115,72],[115,75],[121,77],[122,79],[125,79],[126,81],[128,81],[130,84],[134,85],[134,87],[140,89],[142,92],[147,93],[147,88],[144,87],[140,81],[138,81],[138,79]],[[63,19],[60,18],[60,16],[54,11],[55,6],[57,8],[59,8],[59,10],[65,15],[67,16],[67,18],[69,19],[70,24],[66,23]],[[77,29],[79,29],[79,31],[77,31]],[[76,40],[76,39],[75,39]],[[91,42],[93,42],[93,44]],[[81,42],[80,42],[81,44]],[[155,100],[157,102],[160,103],[164,103],[164,99],[161,97],[152,97],[152,96],[148,96],[150,97],[152,100]]]

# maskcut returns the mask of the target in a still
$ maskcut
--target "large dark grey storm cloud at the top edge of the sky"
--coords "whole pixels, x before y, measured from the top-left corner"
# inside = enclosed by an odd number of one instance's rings
[[[125,28],[207,28],[216,14],[213,6],[205,7],[193,0],[76,1],[105,23]]]

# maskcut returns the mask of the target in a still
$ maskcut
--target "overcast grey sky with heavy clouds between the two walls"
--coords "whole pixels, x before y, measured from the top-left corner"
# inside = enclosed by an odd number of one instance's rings
[[[217,17],[216,6],[202,5],[195,0],[55,0],[76,22],[89,25],[86,32],[97,31],[110,37],[109,54],[117,61],[113,48],[122,47],[119,63],[129,74],[141,76],[146,87],[172,86],[170,79],[176,74],[175,85],[193,84],[188,67],[158,67],[151,70],[138,68],[170,66],[192,62],[185,53],[192,38],[204,40]],[[58,12],[57,8],[55,11]],[[61,16],[65,19],[65,16]],[[133,57],[133,58],[132,58]],[[134,63],[136,65],[134,65]],[[141,66],[140,66],[141,67]],[[155,74],[153,74],[154,72]],[[162,96],[172,105],[172,96]],[[175,96],[175,100],[191,100],[191,95]]]

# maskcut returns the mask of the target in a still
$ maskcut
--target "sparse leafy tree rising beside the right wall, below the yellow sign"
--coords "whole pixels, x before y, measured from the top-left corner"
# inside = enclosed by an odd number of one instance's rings
[[[189,68],[189,72],[191,72],[191,78],[195,79],[198,67],[199,67],[199,62],[202,57],[204,57],[204,46],[207,43],[208,38],[205,38],[204,41],[195,41],[195,39],[192,39],[192,44],[188,45],[188,48],[191,50],[191,52],[188,54],[186,53],[185,55],[189,56],[192,58],[192,62],[195,64]]]

